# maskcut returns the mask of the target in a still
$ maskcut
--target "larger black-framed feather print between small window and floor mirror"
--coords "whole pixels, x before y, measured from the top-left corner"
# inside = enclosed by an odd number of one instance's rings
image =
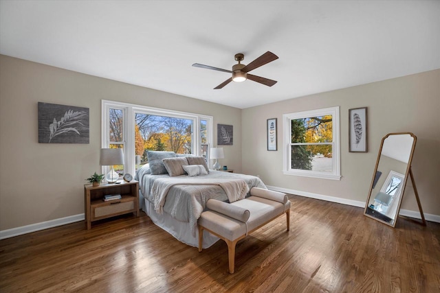
[[[367,152],[366,107],[349,110],[349,152]]]

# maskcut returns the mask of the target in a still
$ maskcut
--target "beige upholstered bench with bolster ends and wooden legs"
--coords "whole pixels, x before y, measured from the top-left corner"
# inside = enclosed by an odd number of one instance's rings
[[[287,231],[290,226],[290,201],[286,194],[254,187],[250,197],[227,203],[210,199],[207,211],[199,218],[199,252],[203,230],[216,235],[228,244],[229,272],[234,273],[235,246],[239,240],[278,216],[287,215]]]

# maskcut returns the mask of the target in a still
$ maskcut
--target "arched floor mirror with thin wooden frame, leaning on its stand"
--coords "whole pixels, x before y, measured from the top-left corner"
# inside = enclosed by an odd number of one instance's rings
[[[394,227],[409,176],[421,219],[426,224],[411,171],[416,141],[411,132],[390,133],[382,139],[364,215]]]

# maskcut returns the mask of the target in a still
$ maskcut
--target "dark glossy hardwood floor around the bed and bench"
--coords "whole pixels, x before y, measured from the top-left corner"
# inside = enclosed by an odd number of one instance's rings
[[[201,253],[142,212],[0,241],[0,292],[440,292],[440,224],[292,196],[285,217]]]

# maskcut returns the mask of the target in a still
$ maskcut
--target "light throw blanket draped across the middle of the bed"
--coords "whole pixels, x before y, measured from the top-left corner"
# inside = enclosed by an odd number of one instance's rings
[[[154,209],[162,214],[168,190],[175,185],[219,185],[225,191],[230,202],[242,200],[249,192],[248,184],[245,180],[236,178],[200,178],[188,177],[184,181],[181,178],[157,178],[151,187],[151,196],[153,197]]]

